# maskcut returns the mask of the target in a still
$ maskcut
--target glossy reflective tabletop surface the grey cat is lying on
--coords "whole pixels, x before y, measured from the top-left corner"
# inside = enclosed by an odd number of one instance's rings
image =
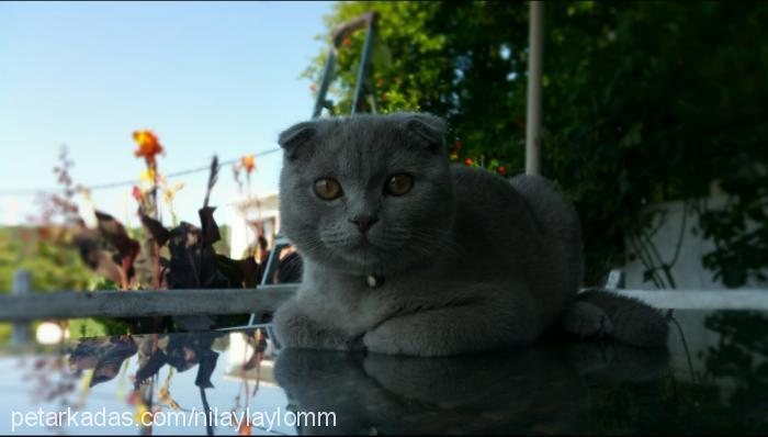
[[[768,432],[766,313],[676,311],[675,318],[685,335],[673,325],[668,350],[550,339],[440,359],[275,354],[266,330],[249,329],[5,351],[0,433]],[[68,415],[50,422],[57,412]]]

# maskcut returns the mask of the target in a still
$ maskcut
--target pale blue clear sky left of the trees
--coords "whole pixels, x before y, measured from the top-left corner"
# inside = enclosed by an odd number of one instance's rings
[[[309,80],[326,46],[330,2],[0,2],[0,190],[56,187],[66,144],[76,182],[137,178],[132,132],[151,128],[166,148],[160,172],[276,146],[309,117]],[[276,189],[281,155],[257,159],[256,191]],[[205,172],[173,179],[181,220],[196,223]],[[95,206],[134,216],[131,188],[93,192]],[[237,200],[223,168],[212,203]],[[1,195],[0,224],[35,213],[34,197]],[[217,220],[226,222],[225,209]]]

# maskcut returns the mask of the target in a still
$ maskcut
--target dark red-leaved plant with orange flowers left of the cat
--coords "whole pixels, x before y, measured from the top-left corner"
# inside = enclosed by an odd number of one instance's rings
[[[146,150],[158,149],[161,149],[159,144],[158,147]],[[151,165],[157,168],[157,163],[153,161]],[[149,284],[156,290],[256,287],[260,270],[252,257],[234,260],[214,250],[213,245],[221,239],[221,233],[214,220],[216,209],[208,205],[208,202],[217,176],[218,159],[214,157],[205,200],[199,211],[200,227],[182,221],[179,225],[167,228],[157,218],[157,209],[150,214],[146,203],[139,202],[138,213],[146,235],[145,244],[140,245],[117,220],[97,211],[98,226],[91,229],[81,223],[75,238],[81,258],[91,269],[116,282],[123,290],[143,289]],[[147,256],[147,248],[150,256]],[[168,256],[161,256],[161,248],[167,248],[163,253]],[[147,328],[158,329],[159,323],[159,326],[171,325],[181,329],[210,329],[225,325],[231,318],[170,317],[165,318],[165,322],[155,321]]]

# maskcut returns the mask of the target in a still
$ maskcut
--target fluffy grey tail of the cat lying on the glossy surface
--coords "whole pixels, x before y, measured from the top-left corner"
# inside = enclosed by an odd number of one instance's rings
[[[610,337],[640,347],[664,347],[669,336],[669,323],[658,310],[605,290],[579,293],[562,326],[583,338]]]

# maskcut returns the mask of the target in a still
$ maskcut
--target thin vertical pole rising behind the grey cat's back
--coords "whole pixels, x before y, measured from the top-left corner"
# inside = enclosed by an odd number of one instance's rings
[[[541,173],[541,75],[544,51],[544,3],[530,2],[528,33],[528,113],[526,116],[526,173]]]

